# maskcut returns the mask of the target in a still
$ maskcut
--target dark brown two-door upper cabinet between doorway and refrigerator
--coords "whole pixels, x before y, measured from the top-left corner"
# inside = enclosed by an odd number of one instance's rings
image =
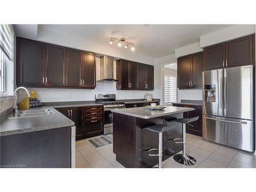
[[[179,89],[202,87],[203,52],[180,57],[177,63]]]

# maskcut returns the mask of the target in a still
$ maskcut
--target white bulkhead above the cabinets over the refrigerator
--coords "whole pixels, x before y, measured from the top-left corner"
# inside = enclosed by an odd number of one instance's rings
[[[227,40],[255,33],[255,25],[235,25],[200,37],[200,47],[219,44]]]

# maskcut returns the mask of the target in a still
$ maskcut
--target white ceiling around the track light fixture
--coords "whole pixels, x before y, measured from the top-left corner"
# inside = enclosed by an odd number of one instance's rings
[[[173,54],[175,49],[194,44],[200,36],[231,27],[232,25],[38,25],[57,33],[89,39],[103,46],[110,35],[125,37],[135,42],[136,54],[159,58]],[[124,48],[123,48],[124,49]],[[127,50],[130,51],[130,50]]]

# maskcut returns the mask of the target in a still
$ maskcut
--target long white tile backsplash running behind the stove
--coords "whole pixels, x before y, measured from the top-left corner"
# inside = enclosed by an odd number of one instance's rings
[[[29,90],[34,90],[36,98],[41,102],[95,100],[95,94],[116,94],[116,99],[142,99],[146,93],[152,93],[153,98],[160,99],[161,97],[160,89],[154,91],[116,90],[115,82],[97,82],[95,90],[55,88],[29,88]],[[20,91],[19,101],[24,97],[24,92]]]

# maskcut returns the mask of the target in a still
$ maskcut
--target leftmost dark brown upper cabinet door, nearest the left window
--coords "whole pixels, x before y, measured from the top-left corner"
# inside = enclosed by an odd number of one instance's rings
[[[17,37],[17,84],[45,85],[45,44]]]

